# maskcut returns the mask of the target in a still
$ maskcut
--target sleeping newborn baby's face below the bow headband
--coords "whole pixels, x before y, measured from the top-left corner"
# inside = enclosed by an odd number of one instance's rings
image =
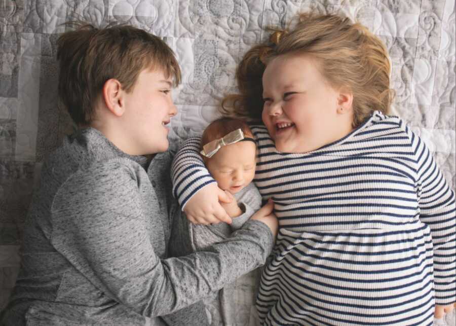
[[[236,194],[250,184],[255,176],[256,146],[252,141],[239,141],[223,146],[206,166],[218,187]]]

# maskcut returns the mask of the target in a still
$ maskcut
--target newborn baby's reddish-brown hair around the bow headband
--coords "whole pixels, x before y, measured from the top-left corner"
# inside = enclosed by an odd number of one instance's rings
[[[241,129],[244,136],[253,138],[253,133],[245,121],[235,118],[219,118],[212,121],[206,129],[204,129],[203,135],[201,136],[200,150],[202,150],[203,146],[208,142],[221,138],[237,129]]]

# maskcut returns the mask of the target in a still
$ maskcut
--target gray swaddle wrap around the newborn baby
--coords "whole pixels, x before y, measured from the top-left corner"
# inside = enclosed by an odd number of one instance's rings
[[[231,225],[195,225],[188,222],[185,213],[176,212],[169,242],[170,255],[179,257],[195,251],[204,251],[214,243],[230,237],[240,229],[255,211],[261,207],[261,195],[253,183],[234,195],[243,214],[233,219]],[[259,320],[254,316],[255,296],[258,288],[260,268],[257,268],[220,291],[212,293],[192,306],[168,315],[166,321],[173,325],[256,325]],[[195,320],[205,309],[207,321]],[[203,314],[204,315],[204,314]],[[206,323],[207,322],[207,323]]]

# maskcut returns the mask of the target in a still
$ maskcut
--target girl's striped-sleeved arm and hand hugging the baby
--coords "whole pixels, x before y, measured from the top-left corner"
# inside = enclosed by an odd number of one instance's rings
[[[171,166],[173,195],[189,221],[195,224],[226,222],[231,218],[220,205],[231,199],[210,175],[199,154],[201,137],[187,139]]]

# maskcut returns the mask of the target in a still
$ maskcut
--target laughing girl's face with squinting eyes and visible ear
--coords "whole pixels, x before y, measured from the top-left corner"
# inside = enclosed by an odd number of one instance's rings
[[[333,89],[317,66],[309,56],[287,54],[264,70],[262,120],[279,152],[314,151],[352,130],[351,94]]]

